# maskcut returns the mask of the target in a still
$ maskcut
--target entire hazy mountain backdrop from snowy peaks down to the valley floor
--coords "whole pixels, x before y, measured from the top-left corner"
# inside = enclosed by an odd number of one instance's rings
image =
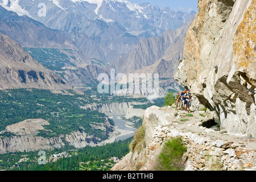
[[[100,73],[173,78],[195,12],[122,0],[0,0],[0,32],[72,86]],[[163,85],[176,85],[174,80]]]

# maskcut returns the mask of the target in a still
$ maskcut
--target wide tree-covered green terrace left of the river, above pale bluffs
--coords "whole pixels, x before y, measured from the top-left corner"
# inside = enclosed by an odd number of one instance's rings
[[[71,91],[72,92],[72,91]],[[91,123],[106,122],[106,115],[98,111],[81,109],[89,104],[90,98],[72,93],[72,95],[54,94],[49,90],[14,89],[0,91],[0,131],[26,119],[46,119],[38,134],[41,137],[56,137],[82,130],[95,137],[106,139],[105,131],[94,130]],[[111,122],[114,125],[113,122]],[[10,134],[8,134],[9,136]],[[5,137],[4,135],[0,137]]]

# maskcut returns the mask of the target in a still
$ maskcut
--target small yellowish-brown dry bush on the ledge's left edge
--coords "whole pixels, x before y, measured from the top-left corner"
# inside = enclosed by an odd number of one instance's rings
[[[143,147],[146,146],[145,144],[145,133],[146,127],[140,126],[137,131],[135,131],[133,140],[131,141],[129,148],[131,152],[138,151],[140,152]]]

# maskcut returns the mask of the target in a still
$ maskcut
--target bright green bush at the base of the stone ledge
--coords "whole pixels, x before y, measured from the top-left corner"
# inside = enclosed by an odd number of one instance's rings
[[[182,138],[172,138],[163,144],[162,151],[156,161],[157,171],[182,171],[185,166],[183,157],[187,148],[183,144]]]

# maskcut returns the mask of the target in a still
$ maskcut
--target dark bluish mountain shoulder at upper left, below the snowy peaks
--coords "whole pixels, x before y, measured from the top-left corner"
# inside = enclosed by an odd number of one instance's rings
[[[23,47],[78,49],[60,30],[52,30],[28,16],[18,16],[0,6],[0,32]],[[22,36],[21,36],[22,35]]]

